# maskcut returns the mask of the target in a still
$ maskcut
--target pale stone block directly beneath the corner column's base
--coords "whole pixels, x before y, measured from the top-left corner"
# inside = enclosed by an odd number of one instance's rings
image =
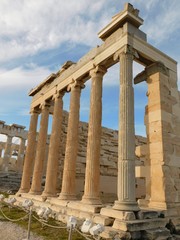
[[[118,211],[112,208],[102,208],[101,215],[108,216],[116,219],[121,220],[134,220],[136,219],[135,214],[133,212],[127,212],[127,211]]]

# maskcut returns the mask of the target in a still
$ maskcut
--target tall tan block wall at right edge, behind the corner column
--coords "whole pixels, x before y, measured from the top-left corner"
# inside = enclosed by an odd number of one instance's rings
[[[180,100],[177,75],[160,63],[147,68],[146,72],[151,73],[147,78],[145,115],[151,166],[150,206],[173,209],[177,205],[179,208]]]

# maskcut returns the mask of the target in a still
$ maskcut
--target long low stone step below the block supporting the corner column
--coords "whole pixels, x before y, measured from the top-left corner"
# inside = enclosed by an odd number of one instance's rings
[[[145,219],[145,220],[134,220],[134,221],[123,221],[115,219],[113,228],[122,231],[141,231],[155,228],[164,228],[167,224],[165,218],[156,219]]]

